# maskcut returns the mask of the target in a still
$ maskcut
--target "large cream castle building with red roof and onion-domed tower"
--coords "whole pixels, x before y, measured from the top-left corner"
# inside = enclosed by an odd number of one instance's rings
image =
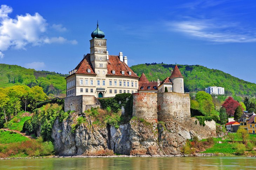
[[[67,97],[113,97],[120,93],[137,93],[139,76],[128,67],[127,57],[122,52],[118,56],[108,54],[107,39],[99,24],[91,36],[90,53],[84,55],[66,77]]]

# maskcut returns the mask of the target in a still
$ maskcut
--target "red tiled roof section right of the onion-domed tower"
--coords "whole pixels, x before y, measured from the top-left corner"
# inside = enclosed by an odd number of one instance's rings
[[[128,67],[124,62],[120,61],[118,56],[108,56],[108,74],[107,75],[120,75],[120,76],[129,76],[129,77],[138,77],[130,67]],[[115,74],[112,74],[112,71],[115,71]],[[124,74],[122,74],[124,71]],[[129,72],[132,75],[129,75]]]

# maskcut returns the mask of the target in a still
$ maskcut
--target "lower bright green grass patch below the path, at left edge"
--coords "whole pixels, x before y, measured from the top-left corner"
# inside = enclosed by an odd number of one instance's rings
[[[0,131],[0,143],[7,144],[7,143],[14,143],[14,142],[22,142],[29,140],[27,137],[22,136],[18,133],[12,133],[10,131]]]

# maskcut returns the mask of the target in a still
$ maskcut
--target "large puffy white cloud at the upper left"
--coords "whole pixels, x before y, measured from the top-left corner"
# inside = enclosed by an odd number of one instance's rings
[[[0,8],[0,58],[3,58],[2,51],[9,47],[14,49],[26,49],[26,46],[41,45],[49,43],[71,43],[77,44],[76,40],[67,40],[63,37],[47,37],[46,31],[48,23],[39,14],[17,15],[16,19],[8,16],[12,8],[7,5],[1,5]],[[55,29],[65,31],[66,28],[61,24],[53,24]]]

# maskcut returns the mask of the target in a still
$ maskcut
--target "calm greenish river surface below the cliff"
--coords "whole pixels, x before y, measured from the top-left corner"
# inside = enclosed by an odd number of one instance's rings
[[[256,157],[113,157],[0,160],[0,170],[5,169],[256,170]]]

